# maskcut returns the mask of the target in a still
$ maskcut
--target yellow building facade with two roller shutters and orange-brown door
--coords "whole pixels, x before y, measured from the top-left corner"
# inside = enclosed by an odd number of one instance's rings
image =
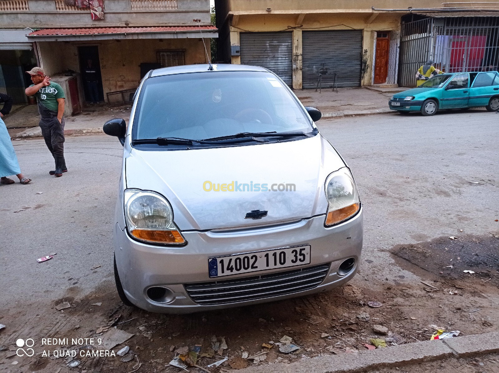
[[[319,77],[322,87],[392,86],[397,84],[401,16],[446,12],[453,4],[216,0],[219,60],[266,67],[293,89],[315,88]]]

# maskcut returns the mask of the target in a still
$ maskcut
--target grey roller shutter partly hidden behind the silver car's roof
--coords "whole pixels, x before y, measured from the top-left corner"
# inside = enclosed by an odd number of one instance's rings
[[[241,63],[265,67],[292,83],[292,32],[241,32]]]

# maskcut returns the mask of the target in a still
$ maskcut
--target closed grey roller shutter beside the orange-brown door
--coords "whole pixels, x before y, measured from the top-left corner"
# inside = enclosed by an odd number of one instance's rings
[[[362,30],[303,31],[303,88],[315,88],[319,70],[322,87],[358,87],[362,75]],[[325,71],[325,70],[323,70]]]

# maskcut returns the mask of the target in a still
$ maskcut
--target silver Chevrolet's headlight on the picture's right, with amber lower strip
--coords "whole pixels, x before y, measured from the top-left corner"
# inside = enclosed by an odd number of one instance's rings
[[[328,201],[326,226],[341,223],[360,209],[360,198],[353,176],[343,167],[330,174],[325,184]]]

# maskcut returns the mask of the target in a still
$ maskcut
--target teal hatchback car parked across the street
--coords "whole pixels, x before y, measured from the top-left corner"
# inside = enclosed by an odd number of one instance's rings
[[[437,110],[485,107],[499,110],[499,72],[439,74],[417,88],[392,96],[388,105],[400,113],[420,111],[425,116]]]

